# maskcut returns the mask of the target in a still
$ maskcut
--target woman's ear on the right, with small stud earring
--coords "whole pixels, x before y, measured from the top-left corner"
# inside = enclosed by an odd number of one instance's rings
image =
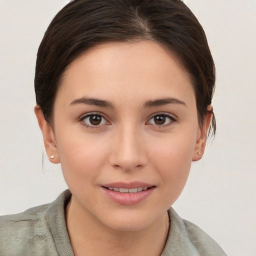
[[[194,147],[192,161],[200,160],[204,153],[204,149],[205,149],[205,145],[206,145],[207,131],[208,131],[208,128],[210,125],[211,117],[212,117],[212,106],[211,105],[207,106],[207,111],[208,111],[208,113],[204,118],[202,126],[198,128],[197,140],[196,140],[196,144]]]

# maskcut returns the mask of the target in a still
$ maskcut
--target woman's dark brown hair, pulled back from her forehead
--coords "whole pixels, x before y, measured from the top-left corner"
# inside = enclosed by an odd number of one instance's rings
[[[201,125],[215,84],[215,67],[205,33],[181,0],[72,0],[49,24],[37,52],[36,103],[51,123],[53,103],[69,63],[107,41],[152,40],[169,49],[188,71]],[[215,134],[214,114],[211,132]]]

